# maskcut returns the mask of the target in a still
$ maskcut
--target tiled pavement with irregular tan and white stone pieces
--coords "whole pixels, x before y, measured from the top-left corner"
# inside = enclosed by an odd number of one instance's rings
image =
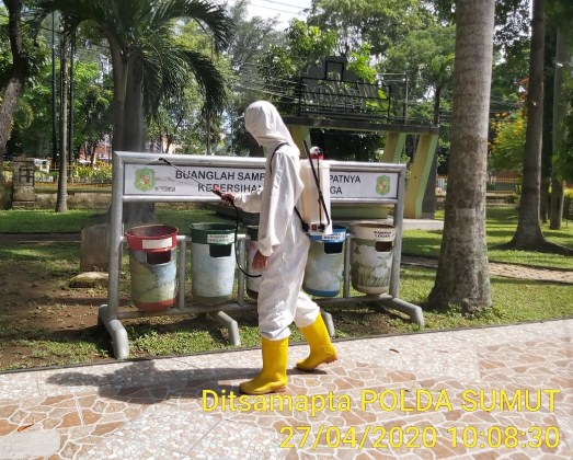
[[[572,336],[566,319],[336,342],[316,373],[297,345],[285,393],[241,399],[260,349],[0,373],[0,458],[571,459]]]

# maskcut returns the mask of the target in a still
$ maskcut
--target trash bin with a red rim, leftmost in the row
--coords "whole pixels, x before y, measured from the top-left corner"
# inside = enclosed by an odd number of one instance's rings
[[[129,248],[131,299],[142,311],[162,311],[175,303],[177,228],[134,227],[125,232]]]

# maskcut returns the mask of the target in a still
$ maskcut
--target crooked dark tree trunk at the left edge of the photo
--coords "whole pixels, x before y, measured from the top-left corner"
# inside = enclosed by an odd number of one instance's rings
[[[22,94],[30,68],[30,60],[26,57],[22,42],[22,1],[4,0],[4,4],[8,8],[8,32],[10,35],[10,50],[12,51],[12,70],[0,105],[0,185],[4,182],[3,163],[5,143],[12,130],[12,116],[18,100]]]

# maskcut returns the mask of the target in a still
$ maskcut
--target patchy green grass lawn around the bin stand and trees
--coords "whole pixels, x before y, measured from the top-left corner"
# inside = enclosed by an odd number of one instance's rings
[[[0,233],[79,232],[94,211],[0,211]],[[218,220],[213,212],[195,208],[158,206],[157,221],[182,231],[191,222]],[[563,256],[534,252],[498,251],[495,246],[512,237],[517,225],[514,209],[493,208],[488,214],[490,260],[553,268],[573,269]],[[553,242],[573,248],[573,225],[561,231],[543,228]],[[437,256],[439,232],[404,232],[408,254]],[[106,288],[70,289],[68,280],[78,273],[79,243],[12,244],[0,237],[0,370],[48,365],[69,365],[113,359],[111,340],[96,323],[98,307],[105,302]],[[10,269],[9,269],[10,267]],[[128,272],[124,264],[124,272]],[[20,273],[22,283],[13,281]],[[400,298],[425,306],[435,271],[403,266]],[[21,278],[18,278],[21,279]],[[122,276],[122,299],[129,302],[128,273]],[[565,318],[573,314],[573,285],[492,276],[493,308],[468,317],[452,307],[447,312],[424,308],[426,330],[444,330]],[[26,297],[26,292],[31,292]],[[124,304],[124,303],[122,303]],[[340,304],[326,309],[334,320],[336,336],[360,337],[417,331],[399,313],[371,304]],[[242,346],[259,346],[254,311],[232,313],[240,326]],[[131,357],[190,354],[230,348],[227,332],[206,315],[156,317],[124,320]],[[293,341],[301,341],[293,327]]]

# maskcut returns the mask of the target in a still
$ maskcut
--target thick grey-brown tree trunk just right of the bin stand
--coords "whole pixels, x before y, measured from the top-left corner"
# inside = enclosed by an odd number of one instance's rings
[[[454,117],[444,237],[428,302],[439,309],[491,307],[485,180],[494,0],[458,0]]]

